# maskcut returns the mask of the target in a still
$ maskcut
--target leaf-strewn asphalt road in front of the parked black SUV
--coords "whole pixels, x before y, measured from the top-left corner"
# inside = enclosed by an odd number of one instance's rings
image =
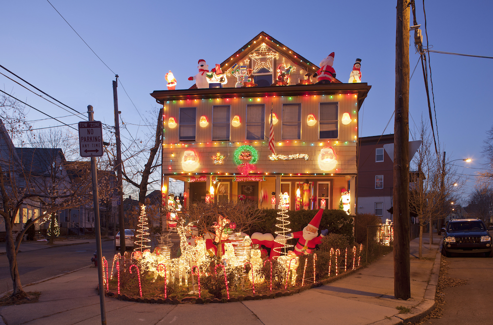
[[[481,325],[493,324],[493,258],[485,258],[484,254],[453,254],[453,257],[442,256],[448,271],[446,276],[465,280],[455,287],[447,287],[445,305],[440,319],[432,319],[423,324],[432,325]]]

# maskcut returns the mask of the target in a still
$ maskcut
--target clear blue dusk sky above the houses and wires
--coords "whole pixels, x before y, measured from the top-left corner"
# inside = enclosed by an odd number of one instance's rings
[[[5,1],[0,13],[0,65],[78,112],[86,115],[92,105],[94,119],[108,125],[114,125],[112,81],[118,74],[122,142],[145,143],[150,139],[146,134],[155,128],[147,126],[146,119],[152,118],[154,124],[151,112],[159,108],[149,94],[166,89],[164,76],[169,70],[176,77],[176,89],[188,89],[194,81],[187,78],[197,73],[199,59],[210,67],[222,63],[263,31],[316,64],[335,52],[333,68],[342,82],[347,82],[360,58],[362,82],[372,88],[359,112],[359,136],[393,133],[397,1],[274,2]],[[430,49],[493,56],[493,1],[424,1],[424,10],[423,1],[416,1],[416,13],[423,44]],[[411,33],[411,73],[416,70],[410,81],[409,110],[411,133],[416,134],[422,118],[429,123],[429,113],[413,38]],[[481,151],[493,125],[493,61],[439,53],[429,57],[437,140],[448,161],[473,159],[451,162],[465,182],[465,197],[475,185],[468,175],[481,171],[486,162]],[[0,72],[19,81],[4,69]],[[83,120],[1,74],[0,89],[75,129]],[[33,108],[28,108],[28,120],[34,128],[62,125]]]

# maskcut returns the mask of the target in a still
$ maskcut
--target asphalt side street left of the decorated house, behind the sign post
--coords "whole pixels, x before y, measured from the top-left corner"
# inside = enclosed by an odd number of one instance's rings
[[[111,261],[114,255],[113,241],[103,241],[103,256]],[[17,263],[22,285],[67,273],[91,265],[96,244],[78,244],[20,252]],[[28,287],[29,288],[29,287]],[[8,259],[0,256],[0,294],[12,289]]]

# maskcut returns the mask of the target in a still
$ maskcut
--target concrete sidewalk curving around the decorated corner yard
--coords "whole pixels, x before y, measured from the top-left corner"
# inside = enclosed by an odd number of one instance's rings
[[[439,243],[429,249],[423,239],[411,241],[411,298],[393,297],[393,256],[383,256],[366,268],[299,294],[266,300],[210,304],[147,304],[106,297],[107,324],[407,324],[429,312],[435,303],[440,267]],[[96,268],[84,268],[42,283],[25,286],[41,291],[39,302],[0,307],[5,324],[101,324]],[[404,306],[408,314],[396,309]],[[1,324],[1,323],[0,323]]]

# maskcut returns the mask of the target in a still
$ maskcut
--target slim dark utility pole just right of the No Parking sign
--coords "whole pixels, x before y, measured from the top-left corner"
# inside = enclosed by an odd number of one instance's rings
[[[123,217],[123,182],[122,182],[122,151],[120,141],[120,122],[118,119],[118,94],[116,87],[118,87],[118,74],[115,75],[116,80],[113,81],[113,102],[115,106],[115,138],[116,138],[116,178],[118,181],[118,196],[120,198],[120,204],[118,205],[118,220],[120,223],[120,251],[123,256],[125,253],[125,220]],[[116,243],[115,243],[116,245]]]

